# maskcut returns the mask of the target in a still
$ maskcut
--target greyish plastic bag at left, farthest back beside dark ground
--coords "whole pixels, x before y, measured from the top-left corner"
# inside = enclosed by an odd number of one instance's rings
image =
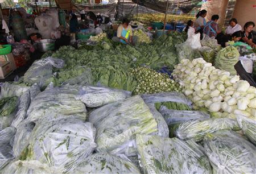
[[[52,57],[35,61],[24,74],[24,83],[28,85],[36,83],[42,88],[46,85],[48,78],[52,76],[52,67],[63,68],[64,61],[61,59],[53,59]]]

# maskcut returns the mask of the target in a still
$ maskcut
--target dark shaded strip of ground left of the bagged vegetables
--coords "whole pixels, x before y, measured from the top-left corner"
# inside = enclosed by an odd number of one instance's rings
[[[43,52],[35,51],[34,53],[31,53],[30,60],[27,62],[26,65],[23,67],[17,68],[13,73],[11,73],[9,76],[7,76],[5,79],[0,79],[0,82],[6,82],[6,81],[14,81],[14,78],[16,76],[22,77],[24,73],[30,68],[31,64],[34,63],[35,60],[41,59],[43,56]]]

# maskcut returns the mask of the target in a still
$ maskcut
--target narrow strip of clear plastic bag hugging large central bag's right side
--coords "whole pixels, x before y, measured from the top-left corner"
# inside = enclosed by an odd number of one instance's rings
[[[158,123],[158,131],[153,132],[151,135],[158,135],[163,137],[169,136],[169,129],[166,121],[164,121],[163,116],[159,113],[158,110],[155,108],[154,103],[147,103],[147,106],[149,107],[151,113],[153,114],[155,121]]]

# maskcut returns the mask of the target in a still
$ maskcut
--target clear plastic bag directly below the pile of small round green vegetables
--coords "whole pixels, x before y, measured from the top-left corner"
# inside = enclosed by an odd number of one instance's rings
[[[192,102],[182,93],[178,92],[166,92],[156,94],[142,94],[141,97],[146,103],[159,103],[159,102],[177,102],[192,107]]]

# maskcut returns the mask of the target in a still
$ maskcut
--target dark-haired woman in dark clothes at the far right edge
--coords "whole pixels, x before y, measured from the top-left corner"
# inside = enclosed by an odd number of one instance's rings
[[[243,26],[242,39],[241,42],[247,43],[253,48],[256,48],[256,44],[253,43],[253,28],[255,27],[254,22],[246,22],[245,26]]]

